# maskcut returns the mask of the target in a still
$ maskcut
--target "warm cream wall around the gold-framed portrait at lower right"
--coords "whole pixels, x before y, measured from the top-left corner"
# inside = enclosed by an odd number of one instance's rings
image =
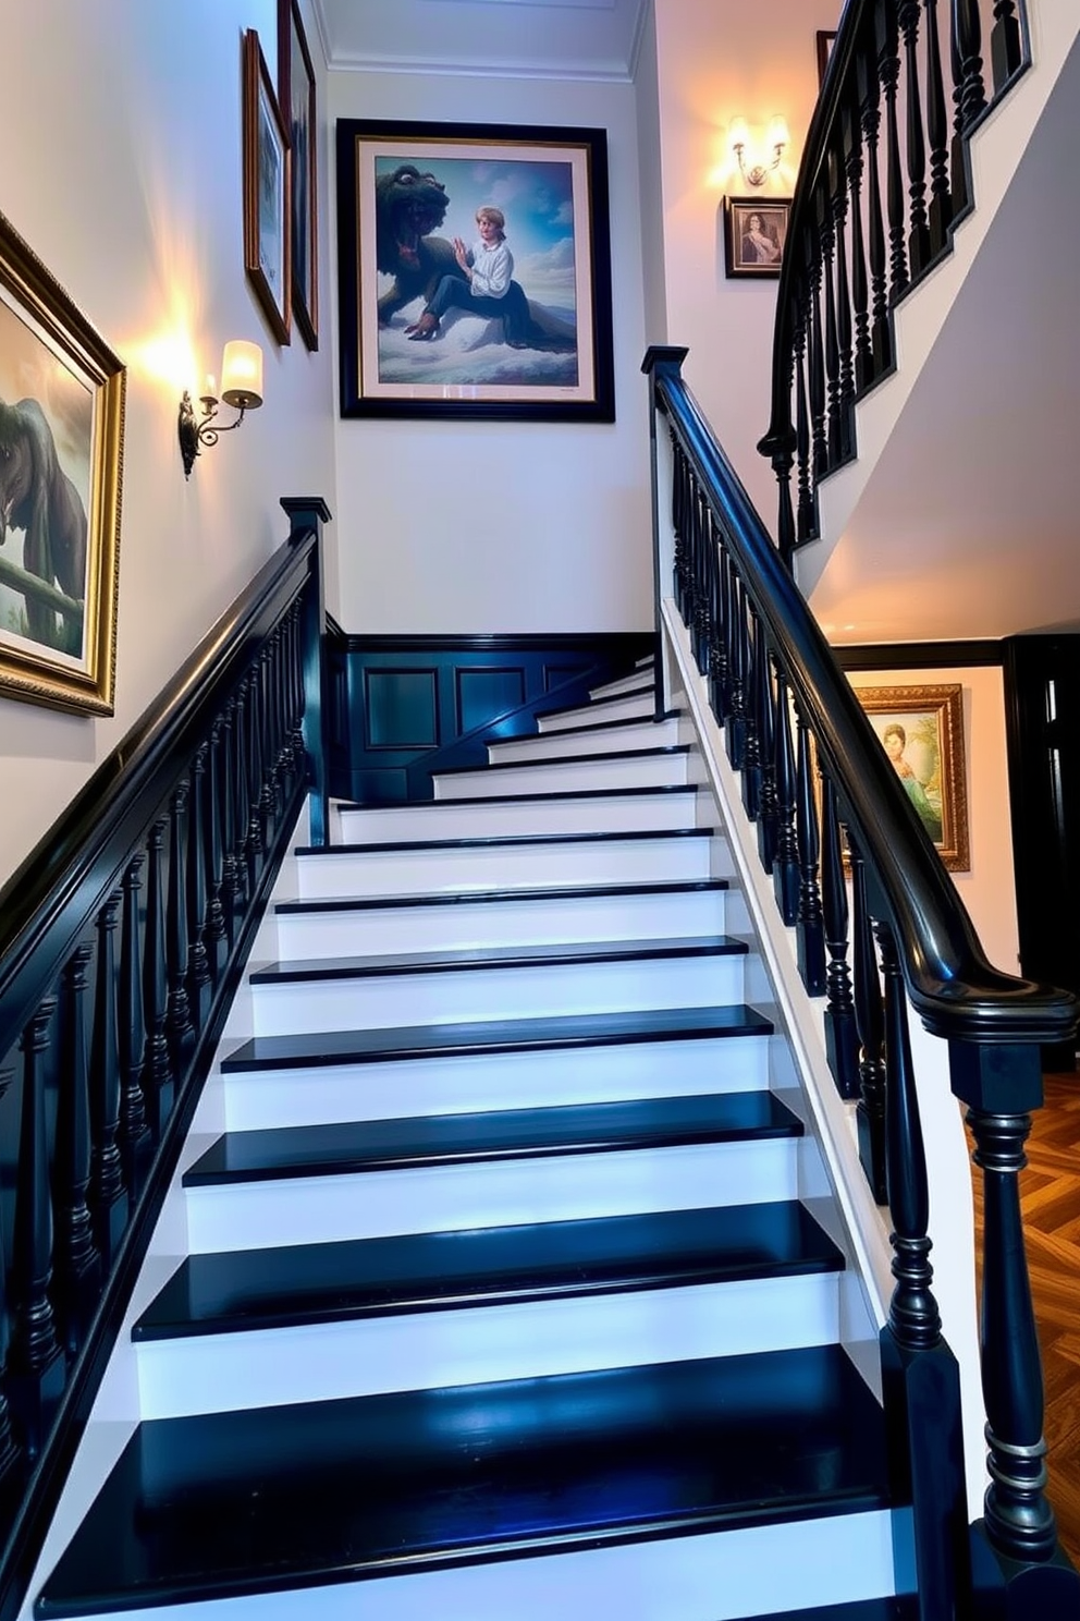
[[[994,968],[1018,974],[1020,943],[1012,874],[1006,697],[1001,666],[860,669],[852,671],[848,679],[855,689],[960,682],[972,870],[954,872],[952,880]]]

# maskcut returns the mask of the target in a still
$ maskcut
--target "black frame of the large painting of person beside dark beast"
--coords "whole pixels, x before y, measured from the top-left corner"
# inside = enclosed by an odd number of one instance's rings
[[[500,397],[476,397],[476,391],[461,387],[455,397],[439,391],[437,397],[387,397],[364,386],[363,340],[364,323],[371,332],[372,311],[361,308],[364,277],[361,251],[361,204],[358,143],[389,148],[415,143],[418,148],[432,143],[447,148],[476,146],[507,151],[546,148],[552,160],[560,152],[583,154],[588,195],[583,199],[586,220],[575,216],[573,230],[588,230],[589,285],[588,326],[578,310],[578,340],[588,345],[593,391],[588,399],[567,399],[562,386],[552,384],[544,397],[528,397],[523,389],[518,397],[508,391]],[[478,152],[478,156],[481,156]],[[405,159],[408,160],[408,159]],[[426,159],[427,160],[427,159]],[[528,160],[523,157],[523,160]],[[436,235],[432,232],[432,235]],[[337,242],[338,242],[338,371],[340,415],[387,418],[453,418],[453,420],[504,420],[504,421],[604,421],[615,420],[615,373],[612,337],[612,256],[607,190],[607,131],[599,128],[539,126],[539,125],[479,125],[479,123],[431,123],[400,120],[337,120]],[[374,259],[374,254],[371,254]],[[585,337],[581,337],[585,327]],[[533,389],[538,396],[541,391]]]

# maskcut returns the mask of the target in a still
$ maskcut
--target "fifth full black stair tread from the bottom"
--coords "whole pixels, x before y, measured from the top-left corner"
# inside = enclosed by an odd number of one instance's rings
[[[452,952],[384,952],[363,956],[313,956],[256,968],[253,986],[282,986],[308,979],[368,979],[376,974],[436,974],[474,968],[559,968],[588,963],[635,963],[643,958],[745,956],[746,942],[727,934],[653,940],[559,940],[552,945],[489,945]]]

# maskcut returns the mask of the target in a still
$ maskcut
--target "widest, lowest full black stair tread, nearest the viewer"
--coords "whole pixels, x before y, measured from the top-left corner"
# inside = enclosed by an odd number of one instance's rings
[[[37,1615],[887,1506],[836,1345],[139,1426]]]

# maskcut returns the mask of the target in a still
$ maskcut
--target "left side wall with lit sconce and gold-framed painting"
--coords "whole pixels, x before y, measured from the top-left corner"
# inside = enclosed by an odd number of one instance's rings
[[[0,209],[128,365],[117,708],[87,720],[0,697],[2,879],[285,538],[279,498],[332,504],[334,439],[329,321],[319,353],[298,336],[279,350],[243,271],[240,45],[257,28],[275,76],[275,0],[0,0],[0,11],[18,152]],[[325,141],[321,156],[325,238]],[[262,344],[266,405],[185,483],[180,392],[220,371],[228,337]]]

